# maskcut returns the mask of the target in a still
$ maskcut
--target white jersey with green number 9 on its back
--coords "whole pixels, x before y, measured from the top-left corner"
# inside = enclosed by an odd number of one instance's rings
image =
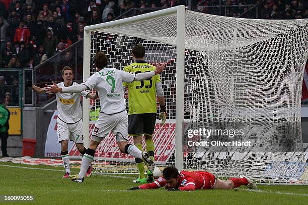
[[[126,110],[123,81],[132,82],[134,79],[135,74],[114,68],[103,68],[82,84],[98,91],[101,102],[100,112],[112,115]]]

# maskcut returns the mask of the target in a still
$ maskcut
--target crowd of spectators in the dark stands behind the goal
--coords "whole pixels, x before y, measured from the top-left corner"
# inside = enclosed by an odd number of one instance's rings
[[[217,9],[208,8],[219,4],[238,5],[226,8],[226,16],[230,17],[244,13],[241,17],[255,18],[255,14],[245,13],[249,7],[243,5],[257,5],[258,10],[254,11],[258,11],[260,19],[308,18],[308,1],[305,0],[192,0],[192,10],[219,15]],[[156,10],[178,5],[188,6],[188,1],[0,0],[0,70],[33,68],[83,39],[85,26],[109,22],[120,15],[128,17],[130,15],[125,14],[132,8]],[[67,59],[71,59],[69,54]],[[9,86],[11,81],[18,84],[14,76],[0,76],[0,84]],[[0,94],[4,96],[7,91]]]

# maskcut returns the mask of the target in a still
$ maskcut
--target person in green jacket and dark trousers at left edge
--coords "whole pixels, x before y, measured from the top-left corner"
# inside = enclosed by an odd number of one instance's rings
[[[6,109],[4,98],[0,98],[0,138],[1,138],[1,150],[3,157],[9,157],[7,151],[7,140],[9,137],[9,119],[10,111]]]

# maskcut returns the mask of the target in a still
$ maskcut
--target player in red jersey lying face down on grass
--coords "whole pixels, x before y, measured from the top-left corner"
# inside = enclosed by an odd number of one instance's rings
[[[226,181],[217,179],[206,171],[178,171],[175,167],[166,167],[163,176],[153,183],[142,184],[128,190],[152,189],[165,186],[168,191],[192,191],[195,189],[233,189],[245,185],[250,189],[258,189],[255,182],[240,175],[240,178],[229,178]]]

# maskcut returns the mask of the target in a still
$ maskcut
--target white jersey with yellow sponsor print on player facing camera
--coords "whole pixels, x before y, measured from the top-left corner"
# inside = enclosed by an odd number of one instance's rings
[[[65,87],[64,82],[57,84],[58,87]],[[73,82],[71,85],[78,85]],[[80,104],[80,97],[87,96],[88,91],[82,91],[80,93],[56,93],[58,118],[65,123],[79,122],[82,117],[82,107]]]

